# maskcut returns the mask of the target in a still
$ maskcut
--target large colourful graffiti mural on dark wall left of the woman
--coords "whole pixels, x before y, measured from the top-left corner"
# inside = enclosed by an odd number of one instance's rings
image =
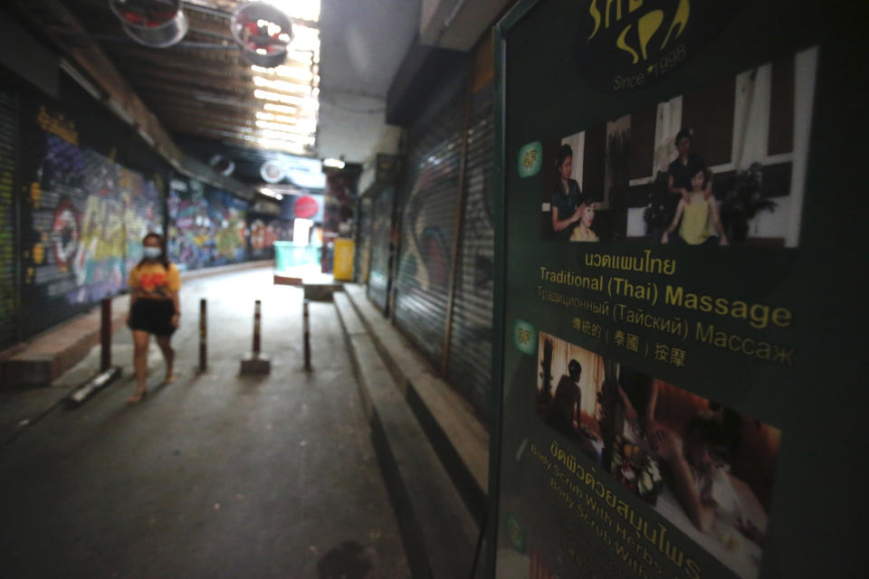
[[[162,231],[158,179],[79,147],[72,121],[41,107],[23,213],[23,305],[33,333],[125,288],[141,239]],[[62,130],[60,130],[62,129]],[[37,133],[40,131],[37,130]]]

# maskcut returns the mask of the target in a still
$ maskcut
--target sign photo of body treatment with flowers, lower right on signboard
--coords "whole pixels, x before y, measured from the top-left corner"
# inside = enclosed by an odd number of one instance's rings
[[[781,432],[652,376],[612,372],[603,466],[734,573],[756,577]]]

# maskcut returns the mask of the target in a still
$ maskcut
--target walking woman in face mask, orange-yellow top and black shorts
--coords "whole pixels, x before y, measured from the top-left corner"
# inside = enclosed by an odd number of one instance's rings
[[[136,369],[136,392],[129,397],[129,403],[141,402],[148,395],[148,342],[151,334],[157,337],[157,344],[166,359],[164,384],[175,379],[175,350],[169,345],[169,340],[181,317],[178,306],[181,281],[177,267],[169,263],[166,257],[166,243],[157,233],[148,233],[142,240],[142,245],[144,257],[129,272],[127,281],[127,325],[133,331],[133,367]]]

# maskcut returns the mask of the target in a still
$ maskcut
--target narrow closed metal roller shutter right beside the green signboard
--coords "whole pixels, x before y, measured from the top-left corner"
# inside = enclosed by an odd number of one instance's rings
[[[465,161],[463,229],[456,272],[447,378],[482,415],[491,392],[494,161],[492,84],[471,101]]]

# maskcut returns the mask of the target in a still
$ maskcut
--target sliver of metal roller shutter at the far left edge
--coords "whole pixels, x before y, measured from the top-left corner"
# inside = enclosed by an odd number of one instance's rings
[[[17,125],[14,97],[0,92],[0,350],[18,337],[13,199]]]

